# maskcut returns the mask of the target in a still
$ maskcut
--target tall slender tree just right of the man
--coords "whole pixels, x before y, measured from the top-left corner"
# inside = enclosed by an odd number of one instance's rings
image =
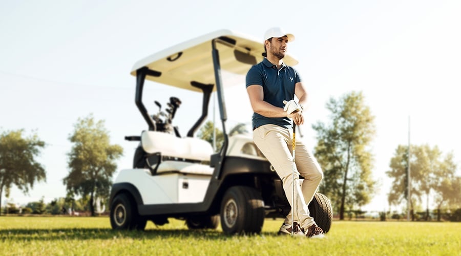
[[[351,92],[339,100],[330,98],[326,108],[331,112],[331,123],[312,125],[317,131],[315,156],[324,170],[319,189],[340,205],[340,219],[344,220],[346,203],[350,208],[360,207],[374,193],[369,149],[375,134],[374,116],[362,92]]]

